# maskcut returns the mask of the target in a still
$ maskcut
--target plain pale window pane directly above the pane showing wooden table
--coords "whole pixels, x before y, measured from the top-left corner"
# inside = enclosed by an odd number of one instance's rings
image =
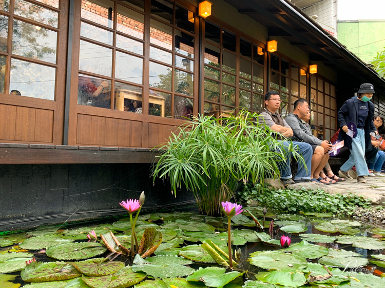
[[[116,54],[115,77],[143,84],[143,59],[122,52]]]

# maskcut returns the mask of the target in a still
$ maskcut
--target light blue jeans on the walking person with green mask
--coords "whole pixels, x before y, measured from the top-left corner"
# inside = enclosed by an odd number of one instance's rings
[[[357,137],[353,138],[349,159],[341,166],[340,170],[348,172],[356,166],[357,176],[369,175],[368,165],[365,161],[365,131],[357,129]]]

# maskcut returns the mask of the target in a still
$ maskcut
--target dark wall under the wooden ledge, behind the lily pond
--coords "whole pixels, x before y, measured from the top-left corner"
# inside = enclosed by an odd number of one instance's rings
[[[168,183],[153,184],[150,170],[149,163],[0,165],[0,231],[124,215],[119,202],[142,191],[143,209],[191,204],[190,192],[176,198]]]

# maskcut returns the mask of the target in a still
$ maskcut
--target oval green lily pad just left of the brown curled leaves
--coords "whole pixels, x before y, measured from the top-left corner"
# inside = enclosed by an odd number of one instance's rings
[[[107,249],[100,243],[68,243],[47,249],[48,257],[58,260],[82,260],[103,254]]]

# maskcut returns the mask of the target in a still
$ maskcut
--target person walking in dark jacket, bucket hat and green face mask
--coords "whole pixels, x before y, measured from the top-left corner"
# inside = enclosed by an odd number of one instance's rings
[[[349,159],[341,166],[339,174],[350,178],[348,171],[356,166],[357,182],[359,183],[367,181],[364,178],[369,175],[365,161],[365,149],[372,147],[370,133],[377,133],[373,124],[374,104],[370,101],[374,93],[372,84],[362,84],[357,92],[357,97],[345,101],[337,113],[341,128],[338,140],[344,140],[344,145],[350,149],[351,153]],[[353,139],[347,135],[350,122],[357,127],[357,136]]]

